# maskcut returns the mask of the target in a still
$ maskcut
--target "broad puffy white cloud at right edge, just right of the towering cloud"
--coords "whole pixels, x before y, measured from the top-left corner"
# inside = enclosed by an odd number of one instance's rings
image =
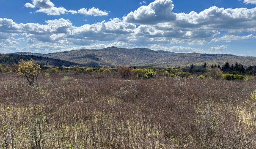
[[[183,28],[204,28],[215,30],[248,30],[255,28],[256,8],[224,9],[210,7],[200,13],[176,14],[176,21],[170,25]]]

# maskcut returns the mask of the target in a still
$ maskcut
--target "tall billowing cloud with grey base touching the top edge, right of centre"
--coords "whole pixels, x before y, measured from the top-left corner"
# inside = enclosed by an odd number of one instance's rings
[[[135,24],[157,24],[160,22],[168,22],[176,19],[171,0],[155,0],[147,6],[141,6],[134,12],[130,12],[123,17],[125,22]]]

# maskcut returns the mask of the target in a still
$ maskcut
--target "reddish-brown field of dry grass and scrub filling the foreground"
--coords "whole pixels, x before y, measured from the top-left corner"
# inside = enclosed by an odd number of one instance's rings
[[[0,73],[0,149],[253,149],[256,80]]]

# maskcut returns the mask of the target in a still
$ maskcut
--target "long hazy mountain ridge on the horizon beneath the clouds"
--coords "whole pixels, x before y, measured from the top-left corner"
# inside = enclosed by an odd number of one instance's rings
[[[38,54],[38,53],[15,53],[33,54],[41,57],[48,57],[54,60],[63,60],[67,64],[75,63],[96,67],[117,67],[120,65],[140,66],[140,67],[188,67],[192,63],[196,66],[220,64],[227,60],[230,64],[235,62],[245,66],[256,65],[256,57],[241,57],[231,54],[199,54],[199,53],[173,53],[169,51],[154,51],[146,48],[125,49],[115,46],[104,49],[80,49],[63,51],[58,53]]]

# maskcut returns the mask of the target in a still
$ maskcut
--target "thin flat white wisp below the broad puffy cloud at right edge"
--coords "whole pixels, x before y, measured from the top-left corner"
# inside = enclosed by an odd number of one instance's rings
[[[224,35],[220,38],[213,38],[213,42],[218,42],[218,41],[226,41],[226,42],[231,42],[234,40],[245,40],[245,39],[251,39],[251,38],[256,38],[256,36],[253,36],[253,34],[247,35],[247,36],[236,36],[236,35]]]

